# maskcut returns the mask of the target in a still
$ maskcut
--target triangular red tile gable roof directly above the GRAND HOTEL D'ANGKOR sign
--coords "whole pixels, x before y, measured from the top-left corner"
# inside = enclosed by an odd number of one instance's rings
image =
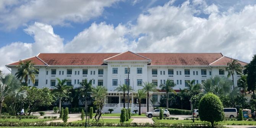
[[[133,53],[131,51],[123,52],[113,57],[107,58],[104,61],[119,61],[119,60],[146,60],[151,61],[149,58],[143,57],[137,53]]]

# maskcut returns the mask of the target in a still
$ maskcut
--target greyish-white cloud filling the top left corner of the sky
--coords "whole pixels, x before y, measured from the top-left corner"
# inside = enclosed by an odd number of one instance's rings
[[[5,0],[4,0],[5,1]],[[14,1],[14,0],[13,0]],[[67,25],[69,22],[83,23],[100,16],[104,7],[118,0],[27,0],[8,12],[0,12],[2,29],[15,29],[19,26],[38,21],[52,25]],[[7,2],[3,2],[6,3]],[[2,8],[5,8],[2,4]],[[0,4],[1,8],[1,4]],[[6,9],[8,10],[8,9]]]

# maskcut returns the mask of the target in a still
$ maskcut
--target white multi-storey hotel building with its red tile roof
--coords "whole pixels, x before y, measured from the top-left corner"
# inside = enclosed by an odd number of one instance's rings
[[[28,86],[39,88],[49,87],[53,89],[57,84],[56,78],[68,79],[67,84],[79,87],[83,79],[94,79],[92,86],[105,86],[107,88],[106,105],[104,112],[112,108],[113,112],[120,112],[122,109],[122,92],[114,91],[119,84],[127,84],[127,68],[130,67],[130,86],[134,92],[130,93],[131,109],[138,110],[136,91],[141,88],[143,82],[159,85],[167,79],[173,80],[177,86],[173,89],[177,92],[186,87],[186,82],[193,79],[196,83],[202,83],[205,79],[220,75],[227,76],[223,69],[230,62],[231,58],[225,57],[222,53],[39,53],[35,57],[27,58],[32,60],[39,70],[36,75],[36,82],[28,81]],[[241,65],[247,63],[241,62]],[[19,62],[11,63],[6,67],[11,68],[11,74],[18,71],[16,67]],[[234,76],[237,81],[240,75]],[[232,79],[232,78],[230,78]],[[237,86],[237,82],[234,82]],[[151,92],[150,99],[160,97],[164,92]],[[125,97],[128,103],[127,94]],[[149,100],[150,101],[150,100]],[[149,110],[153,107],[149,103]],[[146,99],[142,103],[142,112],[146,112]]]

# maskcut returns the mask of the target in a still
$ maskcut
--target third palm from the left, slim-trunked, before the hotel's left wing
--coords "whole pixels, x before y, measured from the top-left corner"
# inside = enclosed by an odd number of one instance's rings
[[[62,103],[62,97],[68,94],[68,90],[72,88],[72,86],[66,85],[66,82],[68,79],[62,79],[56,78],[58,80],[58,84],[55,87],[55,89],[52,90],[53,93],[57,93],[59,98],[59,109],[61,109],[61,103]],[[59,111],[60,112],[60,111]]]

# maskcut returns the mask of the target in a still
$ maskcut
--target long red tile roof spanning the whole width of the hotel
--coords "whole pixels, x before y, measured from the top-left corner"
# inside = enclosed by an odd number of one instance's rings
[[[38,58],[37,58],[38,57]],[[103,61],[143,60],[149,65],[177,66],[226,66],[230,58],[221,53],[40,53],[37,57],[28,58],[35,65],[104,65]],[[44,62],[42,62],[40,59]],[[239,62],[246,65],[245,62]],[[18,65],[19,62],[10,65]],[[211,65],[210,65],[211,64]]]

